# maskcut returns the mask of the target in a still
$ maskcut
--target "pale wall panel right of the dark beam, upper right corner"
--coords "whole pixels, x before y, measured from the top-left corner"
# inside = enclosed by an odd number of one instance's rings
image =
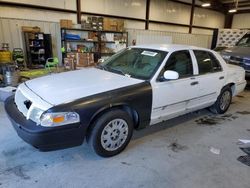
[[[250,14],[235,14],[232,28],[250,28]]]

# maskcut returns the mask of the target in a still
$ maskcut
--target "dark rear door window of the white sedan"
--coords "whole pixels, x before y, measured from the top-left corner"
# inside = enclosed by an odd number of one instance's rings
[[[222,70],[220,62],[211,52],[194,50],[194,54],[198,63],[199,74],[213,73]]]

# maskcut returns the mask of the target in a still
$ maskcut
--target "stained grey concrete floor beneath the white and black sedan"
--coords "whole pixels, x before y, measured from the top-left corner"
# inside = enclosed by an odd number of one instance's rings
[[[237,139],[250,139],[249,99],[250,90],[235,97],[224,116],[202,110],[135,132],[113,158],[87,144],[39,152],[16,135],[0,103],[0,188],[249,188],[250,167],[237,161]]]

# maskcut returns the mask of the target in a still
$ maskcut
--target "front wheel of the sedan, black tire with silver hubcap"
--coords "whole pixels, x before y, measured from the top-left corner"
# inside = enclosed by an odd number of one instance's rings
[[[96,154],[112,157],[126,148],[132,133],[131,117],[122,110],[111,110],[94,122],[87,141]]]

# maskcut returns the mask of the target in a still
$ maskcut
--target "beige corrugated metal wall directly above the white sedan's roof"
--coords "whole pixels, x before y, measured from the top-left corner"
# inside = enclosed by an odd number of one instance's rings
[[[212,43],[212,35],[199,35],[199,34],[188,34],[188,33],[177,33],[168,31],[150,31],[150,30],[139,30],[139,29],[128,29],[129,45],[132,45],[132,40],[136,40],[137,36],[170,36],[172,37],[173,44],[186,44],[198,47],[210,48]],[[145,39],[146,40],[146,39]]]

